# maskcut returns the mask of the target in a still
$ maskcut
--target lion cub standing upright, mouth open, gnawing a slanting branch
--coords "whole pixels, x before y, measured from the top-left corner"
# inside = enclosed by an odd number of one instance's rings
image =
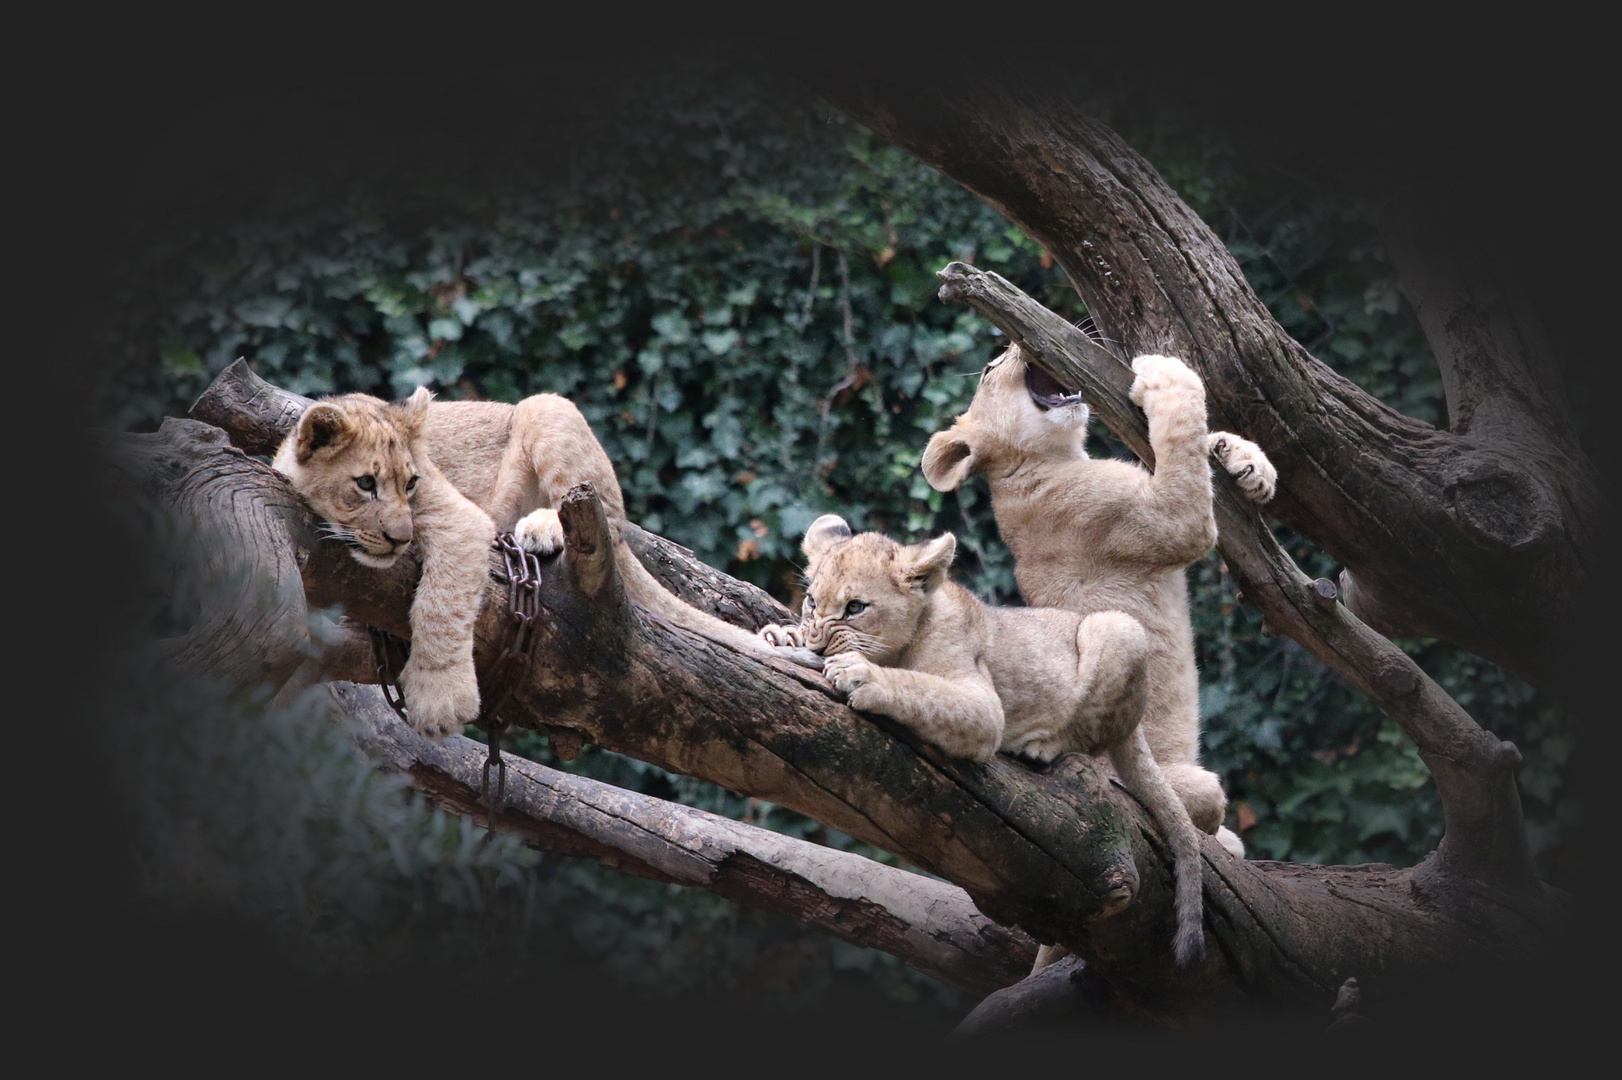
[[[1195,825],[1242,856],[1223,827],[1226,796],[1199,764],[1199,675],[1184,568],[1216,542],[1207,454],[1265,501],[1277,474],[1260,448],[1205,430],[1205,388],[1173,357],[1139,357],[1131,397],[1148,417],[1155,472],[1090,459],[1079,396],[1041,409],[1017,345],[988,365],[968,410],[929,439],[923,472],[947,491],[986,474],[991,506],[1027,603],[1124,611],[1148,634],[1144,733]]]

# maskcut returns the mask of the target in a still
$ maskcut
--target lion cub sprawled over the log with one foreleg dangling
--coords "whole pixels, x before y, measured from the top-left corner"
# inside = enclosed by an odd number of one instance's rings
[[[428,738],[454,735],[478,717],[474,621],[496,532],[511,530],[537,555],[556,553],[556,508],[586,480],[602,499],[615,561],[637,606],[736,649],[779,652],[683,603],[647,572],[620,535],[624,498],[608,456],[581,410],[556,394],[516,405],[441,402],[427,389],[397,404],[368,394],[328,397],[282,441],[274,467],[363,566],[386,568],[412,543],[422,548],[401,689],[412,725]],[[376,491],[362,491],[357,477],[375,477]]]

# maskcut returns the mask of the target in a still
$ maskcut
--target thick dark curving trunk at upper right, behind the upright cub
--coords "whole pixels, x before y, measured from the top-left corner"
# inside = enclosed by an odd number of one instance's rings
[[[1062,75],[1040,65],[1014,76],[915,75],[882,65],[806,71],[850,117],[1035,237],[1126,355],[1194,365],[1213,426],[1255,439],[1273,459],[1270,512],[1345,564],[1343,594],[1361,618],[1382,632],[1452,641],[1562,689],[1572,615],[1614,517],[1578,452],[1541,449],[1560,404],[1530,308],[1510,303],[1512,315],[1483,319],[1499,295],[1491,289],[1460,306],[1432,303],[1416,285],[1421,319],[1452,373],[1460,404],[1450,407],[1465,418],[1439,431],[1307,355],[1220,238],[1082,110]],[[1416,242],[1429,251],[1426,237]],[[1413,259],[1398,261],[1408,281]],[[1473,321],[1484,332],[1468,331]],[[1437,336],[1437,324],[1458,332]],[[1520,360],[1510,357],[1517,347]],[[1468,376],[1481,355],[1504,358],[1486,384]],[[1523,386],[1536,394],[1523,397]]]

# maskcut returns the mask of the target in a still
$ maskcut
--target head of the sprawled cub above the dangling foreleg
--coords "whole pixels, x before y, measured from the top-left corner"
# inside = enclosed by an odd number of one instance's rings
[[[404,402],[370,394],[328,397],[305,410],[276,451],[276,470],[362,566],[384,569],[410,546],[414,443],[431,399],[427,389]]]

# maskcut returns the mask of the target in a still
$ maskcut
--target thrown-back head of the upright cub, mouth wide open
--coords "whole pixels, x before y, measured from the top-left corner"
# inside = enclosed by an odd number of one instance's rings
[[[1002,457],[1085,457],[1090,410],[1009,345],[986,365],[968,410],[923,451],[923,475],[936,491],[950,491]]]

